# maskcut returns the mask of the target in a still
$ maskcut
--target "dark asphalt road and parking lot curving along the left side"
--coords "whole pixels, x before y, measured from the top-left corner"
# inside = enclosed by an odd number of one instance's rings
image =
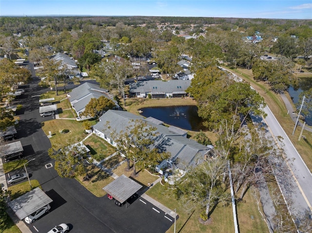
[[[54,167],[44,166],[54,162],[48,156],[47,150],[51,144],[40,123],[52,119],[52,116],[39,116],[39,97],[36,95],[47,90],[38,87],[38,82],[39,78],[35,77],[26,87],[26,92],[16,101],[24,109],[19,113],[18,140],[24,147],[24,156],[36,159],[28,163],[27,171],[31,174],[31,179],[39,180],[42,189],[54,201],[51,213],[28,225],[30,230],[33,233],[47,232],[55,225],[65,222],[73,233],[166,232],[174,219],[142,197],[140,199],[143,202],[136,199],[128,208],[117,207],[107,197],[95,197],[76,179],[62,179]]]

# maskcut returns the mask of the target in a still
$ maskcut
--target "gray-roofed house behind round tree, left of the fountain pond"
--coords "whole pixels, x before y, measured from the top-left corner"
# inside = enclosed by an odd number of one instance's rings
[[[77,115],[79,116],[81,112],[84,111],[86,105],[89,104],[92,98],[98,99],[100,96],[105,96],[111,99],[116,104],[116,108],[119,109],[117,101],[113,99],[111,95],[108,94],[108,90],[100,88],[96,84],[84,83],[77,88],[74,88],[71,92],[67,94],[69,96],[69,101],[72,107],[75,109]]]

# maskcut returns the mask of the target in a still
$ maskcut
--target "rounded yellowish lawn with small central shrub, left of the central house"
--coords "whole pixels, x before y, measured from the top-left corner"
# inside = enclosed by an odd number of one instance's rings
[[[46,121],[42,124],[42,129],[46,135],[49,135],[49,131],[52,132],[52,138],[50,138],[52,146],[77,143],[86,137],[83,133],[85,130],[82,122],[74,120],[54,119]],[[70,132],[61,134],[59,131],[62,129],[69,129]]]

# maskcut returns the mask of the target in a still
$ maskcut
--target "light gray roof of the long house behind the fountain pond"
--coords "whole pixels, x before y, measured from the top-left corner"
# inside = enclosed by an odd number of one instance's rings
[[[130,86],[131,93],[150,93],[164,92],[172,93],[175,91],[185,91],[191,85],[191,80],[161,80],[138,81]]]

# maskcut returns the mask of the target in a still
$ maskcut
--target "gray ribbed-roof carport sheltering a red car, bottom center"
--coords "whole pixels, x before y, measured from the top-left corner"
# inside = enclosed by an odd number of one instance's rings
[[[125,175],[121,175],[102,189],[120,203],[126,202],[127,208],[128,198],[132,197],[132,195],[137,193],[137,191],[142,187],[142,185],[138,184],[133,179],[130,179]]]

